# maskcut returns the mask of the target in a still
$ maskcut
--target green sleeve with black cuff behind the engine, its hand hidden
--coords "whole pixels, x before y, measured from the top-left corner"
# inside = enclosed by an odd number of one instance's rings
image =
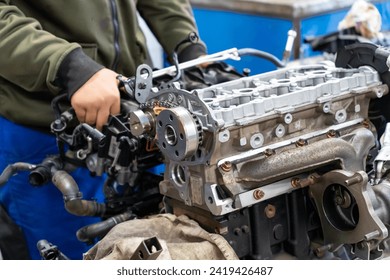
[[[168,55],[191,32],[198,34],[188,0],[138,0],[137,9]],[[196,44],[183,44],[178,50],[180,61],[202,54],[206,54],[206,46],[201,40]]]

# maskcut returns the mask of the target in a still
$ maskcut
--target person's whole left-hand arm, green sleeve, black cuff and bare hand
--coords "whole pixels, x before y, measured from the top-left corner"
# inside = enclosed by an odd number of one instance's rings
[[[85,121],[84,109],[102,112],[104,116],[107,111],[119,111],[119,91],[112,72],[89,58],[79,44],[47,32],[36,19],[25,16],[6,0],[0,1],[0,38],[0,76],[26,94],[39,100],[43,95],[54,97],[66,92],[81,121]],[[106,87],[107,79],[104,85],[101,79],[92,79],[98,73],[101,77],[101,72],[109,76],[110,90]],[[87,115],[96,115],[95,120],[87,120],[101,127],[105,117],[94,112]]]

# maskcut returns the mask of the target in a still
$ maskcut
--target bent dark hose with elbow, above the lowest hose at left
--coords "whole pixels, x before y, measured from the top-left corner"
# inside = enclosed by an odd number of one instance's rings
[[[92,200],[82,199],[82,193],[73,177],[66,171],[56,171],[52,178],[53,184],[64,197],[65,209],[76,216],[103,216],[106,206]]]

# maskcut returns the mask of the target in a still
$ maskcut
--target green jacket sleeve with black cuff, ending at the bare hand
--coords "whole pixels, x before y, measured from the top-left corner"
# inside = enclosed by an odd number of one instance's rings
[[[85,81],[69,84],[75,61],[83,61],[78,71],[88,79],[101,67],[83,54],[76,43],[69,43],[42,29],[39,22],[26,17],[10,1],[0,1],[0,76],[29,92],[75,91]],[[63,63],[64,62],[64,63]],[[79,64],[79,63],[77,63]],[[80,78],[78,78],[80,79]],[[69,89],[69,85],[72,87]]]

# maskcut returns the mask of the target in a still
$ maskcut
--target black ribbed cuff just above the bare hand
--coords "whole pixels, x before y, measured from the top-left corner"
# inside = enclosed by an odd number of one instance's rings
[[[70,99],[82,85],[103,68],[104,66],[78,48],[71,51],[62,61],[57,72],[57,81]]]

